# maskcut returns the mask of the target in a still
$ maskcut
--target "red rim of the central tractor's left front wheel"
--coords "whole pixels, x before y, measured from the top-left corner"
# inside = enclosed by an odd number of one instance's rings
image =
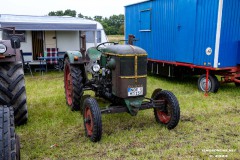
[[[84,123],[85,123],[85,127],[86,127],[86,130],[87,130],[87,135],[92,136],[92,133],[93,133],[93,118],[92,118],[92,114],[91,114],[91,110],[90,110],[89,106],[87,106],[85,108]]]

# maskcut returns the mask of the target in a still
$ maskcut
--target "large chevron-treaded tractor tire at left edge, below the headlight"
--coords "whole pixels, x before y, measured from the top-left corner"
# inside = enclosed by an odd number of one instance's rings
[[[22,63],[0,63],[0,104],[13,107],[15,125],[28,120],[26,99]]]

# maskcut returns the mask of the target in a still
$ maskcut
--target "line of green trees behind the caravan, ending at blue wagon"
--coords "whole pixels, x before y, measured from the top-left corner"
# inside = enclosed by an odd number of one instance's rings
[[[51,11],[49,16],[71,16],[79,17],[100,22],[107,35],[124,35],[124,15],[112,15],[109,18],[103,16],[84,16],[81,13],[77,14],[75,10],[67,9],[65,11]]]

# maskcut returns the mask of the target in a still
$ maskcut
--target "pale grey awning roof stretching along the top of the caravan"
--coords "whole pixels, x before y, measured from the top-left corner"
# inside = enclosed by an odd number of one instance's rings
[[[16,30],[25,31],[80,31],[96,30],[97,22],[69,16],[59,17],[0,14],[0,27],[15,27]]]

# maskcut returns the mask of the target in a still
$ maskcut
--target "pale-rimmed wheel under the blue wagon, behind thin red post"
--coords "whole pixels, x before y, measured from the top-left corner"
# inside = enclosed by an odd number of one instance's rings
[[[219,81],[215,75],[208,76],[208,90],[207,92],[216,93],[219,89]],[[199,91],[206,92],[206,74],[201,75],[198,78],[198,89]]]

